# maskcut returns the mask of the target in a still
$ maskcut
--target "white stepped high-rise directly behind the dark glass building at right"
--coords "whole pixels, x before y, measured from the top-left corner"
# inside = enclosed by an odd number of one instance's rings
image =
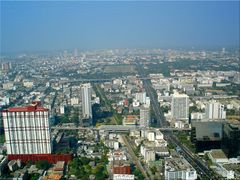
[[[226,111],[224,111],[224,105],[216,101],[210,101],[206,106],[205,111],[206,119],[225,119]]]

